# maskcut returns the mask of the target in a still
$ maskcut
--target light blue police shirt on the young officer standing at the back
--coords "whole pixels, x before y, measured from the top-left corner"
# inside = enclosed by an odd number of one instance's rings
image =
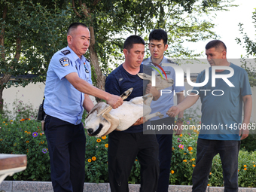
[[[143,63],[143,65],[154,66],[154,64],[151,61],[151,57],[148,57],[148,59],[144,59],[142,63]],[[166,72],[167,78],[172,78],[175,81],[175,70],[171,66],[162,66],[163,63],[170,63],[169,59],[167,59],[165,56],[163,56],[163,59],[159,65],[163,68],[164,72]],[[156,71],[155,69],[153,69],[153,70]],[[156,72],[156,74],[157,73],[158,72]],[[172,93],[163,93],[159,99],[157,99],[156,101],[152,101],[151,102],[151,110],[152,110],[151,113],[155,113],[155,112],[159,111],[161,114],[164,115],[163,118],[166,118],[166,117],[169,117],[166,114],[166,112],[169,110],[170,107],[172,107],[172,105],[174,105],[174,102],[173,102],[174,91],[176,94],[178,92],[183,91],[184,87],[183,86],[177,87],[177,86],[175,86],[175,83],[174,83],[171,87],[167,87],[164,90],[171,90]],[[178,94],[181,94],[181,93],[178,93]],[[182,94],[184,94],[184,93],[182,93]],[[160,117],[158,117],[158,116],[151,118],[151,120],[159,120],[159,119],[160,119]]]

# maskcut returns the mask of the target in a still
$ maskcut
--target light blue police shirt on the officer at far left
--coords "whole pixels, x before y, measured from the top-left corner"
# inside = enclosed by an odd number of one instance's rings
[[[56,52],[50,59],[44,90],[44,112],[72,124],[81,123],[84,112],[84,93],[81,93],[65,78],[72,72],[93,84],[90,62],[68,46]]]

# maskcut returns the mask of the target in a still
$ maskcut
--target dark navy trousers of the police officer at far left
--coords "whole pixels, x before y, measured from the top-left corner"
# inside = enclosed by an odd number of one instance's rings
[[[55,192],[84,191],[84,126],[47,115],[45,135],[50,155],[50,177]]]

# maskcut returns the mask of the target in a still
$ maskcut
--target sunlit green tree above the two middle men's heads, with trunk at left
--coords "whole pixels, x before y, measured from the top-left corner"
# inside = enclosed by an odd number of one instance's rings
[[[96,86],[103,89],[102,72],[111,71],[109,63],[122,60],[123,41],[127,35],[148,37],[154,28],[169,32],[169,56],[198,56],[186,50],[184,41],[198,41],[215,37],[214,24],[205,17],[215,11],[227,10],[232,1],[109,1],[72,0],[72,7],[79,20],[90,27],[90,60],[96,75]],[[146,35],[145,35],[146,34]]]

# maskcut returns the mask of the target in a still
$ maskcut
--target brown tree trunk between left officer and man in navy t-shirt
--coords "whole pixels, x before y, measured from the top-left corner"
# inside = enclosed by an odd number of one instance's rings
[[[95,35],[93,26],[89,27],[90,29],[90,63],[93,65],[94,71],[96,73],[96,87],[101,90],[105,90],[105,76],[102,75],[102,71],[99,67],[99,59],[95,51]]]

